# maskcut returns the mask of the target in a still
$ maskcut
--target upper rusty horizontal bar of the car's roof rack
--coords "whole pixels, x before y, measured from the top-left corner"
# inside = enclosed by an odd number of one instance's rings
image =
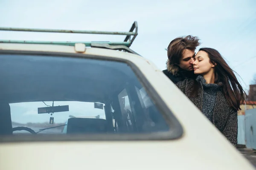
[[[112,35],[127,35],[127,36],[136,34],[136,32],[83,31],[83,30],[8,28],[8,27],[0,27],[0,31],[58,32],[58,33],[78,33],[78,34],[112,34]]]

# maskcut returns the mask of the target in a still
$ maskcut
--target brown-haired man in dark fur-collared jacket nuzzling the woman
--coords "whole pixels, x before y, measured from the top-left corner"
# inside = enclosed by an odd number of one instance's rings
[[[195,78],[193,71],[195,48],[200,45],[198,37],[188,35],[177,37],[170,42],[167,49],[167,69],[163,73],[175,84],[187,78]]]

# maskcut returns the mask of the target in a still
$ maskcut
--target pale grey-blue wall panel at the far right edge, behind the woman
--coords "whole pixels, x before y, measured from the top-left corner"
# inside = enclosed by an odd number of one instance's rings
[[[244,123],[246,147],[256,149],[256,109],[245,111]]]

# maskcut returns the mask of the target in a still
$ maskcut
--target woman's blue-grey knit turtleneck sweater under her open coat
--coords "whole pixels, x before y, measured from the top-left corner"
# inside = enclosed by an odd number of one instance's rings
[[[216,101],[217,92],[220,90],[221,85],[206,84],[206,80],[202,76],[196,79],[203,86],[203,106],[202,113],[212,122],[212,116]]]

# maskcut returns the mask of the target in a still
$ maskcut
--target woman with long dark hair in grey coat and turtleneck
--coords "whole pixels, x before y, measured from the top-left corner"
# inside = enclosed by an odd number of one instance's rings
[[[198,77],[178,82],[178,88],[236,147],[237,111],[241,110],[244,91],[234,71],[212,48],[199,49],[193,68]]]

